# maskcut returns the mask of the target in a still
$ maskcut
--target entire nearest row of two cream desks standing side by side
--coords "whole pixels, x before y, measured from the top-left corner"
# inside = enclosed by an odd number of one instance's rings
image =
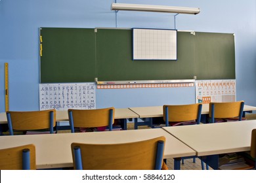
[[[8,135],[0,137],[5,142],[0,143],[0,149],[34,144],[36,168],[53,169],[73,167],[72,142],[119,144],[164,136],[163,158],[174,158],[174,169],[180,169],[181,158],[187,156],[198,156],[213,169],[218,169],[218,154],[251,150],[253,129],[256,129],[256,120],[97,133]]]

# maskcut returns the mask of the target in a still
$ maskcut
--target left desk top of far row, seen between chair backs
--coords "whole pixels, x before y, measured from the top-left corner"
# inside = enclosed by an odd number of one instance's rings
[[[115,119],[139,118],[139,115],[129,108],[115,108]],[[68,121],[68,110],[56,110],[56,122]],[[0,124],[7,124],[5,112],[0,113]]]

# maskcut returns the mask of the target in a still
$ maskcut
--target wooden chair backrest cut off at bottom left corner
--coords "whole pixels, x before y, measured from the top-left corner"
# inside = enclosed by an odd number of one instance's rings
[[[1,170],[35,170],[35,146],[28,144],[0,150]]]

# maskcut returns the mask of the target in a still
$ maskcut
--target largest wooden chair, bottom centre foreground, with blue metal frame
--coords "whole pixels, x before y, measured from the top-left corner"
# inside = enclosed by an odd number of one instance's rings
[[[165,137],[123,144],[72,143],[74,169],[161,169]]]

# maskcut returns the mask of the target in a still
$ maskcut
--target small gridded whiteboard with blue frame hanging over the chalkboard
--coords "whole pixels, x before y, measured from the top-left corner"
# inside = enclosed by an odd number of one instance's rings
[[[133,59],[177,59],[177,31],[133,29]]]

